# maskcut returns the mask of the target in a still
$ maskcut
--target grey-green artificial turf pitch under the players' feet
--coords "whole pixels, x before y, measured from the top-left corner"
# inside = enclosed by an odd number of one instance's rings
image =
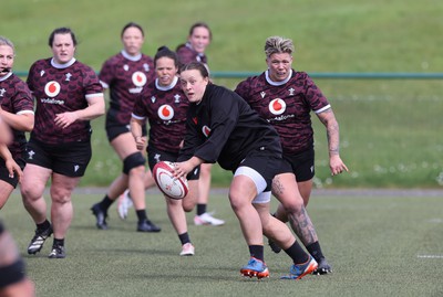
[[[328,191],[313,194],[308,211],[322,250],[333,266],[328,276],[280,280],[286,254],[265,250],[271,277],[257,282],[239,276],[248,259],[238,221],[225,191],[212,195],[210,209],[225,219],[220,227],[192,225],[194,257],[179,257],[179,242],[157,192],[148,192],[157,234],[135,232],[135,213],[120,221],[110,210],[110,230],[95,229],[89,208],[101,199],[78,190],[75,215],[68,233],[65,259],[48,259],[52,237],[35,256],[25,254],[34,225],[13,194],[2,210],[25,259],[38,296],[441,296],[443,262],[441,195]],[[272,201],[272,208],[275,208]],[[427,256],[427,257],[426,257]],[[433,257],[432,257],[433,256]]]

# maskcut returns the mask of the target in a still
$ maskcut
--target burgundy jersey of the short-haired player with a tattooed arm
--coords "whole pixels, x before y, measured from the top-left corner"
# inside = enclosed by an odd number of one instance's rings
[[[235,92],[276,128],[285,153],[309,149],[313,145],[310,112],[330,108],[309,75],[293,70],[287,82],[270,81],[266,71],[240,82]]]

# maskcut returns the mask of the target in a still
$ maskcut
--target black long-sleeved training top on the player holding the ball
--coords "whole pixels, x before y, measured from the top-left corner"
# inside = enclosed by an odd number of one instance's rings
[[[277,131],[235,92],[207,85],[202,102],[189,105],[178,161],[195,156],[235,170],[253,151],[281,157]]]

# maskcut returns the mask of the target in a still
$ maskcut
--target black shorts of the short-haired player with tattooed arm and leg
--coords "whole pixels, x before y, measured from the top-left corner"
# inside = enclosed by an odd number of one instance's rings
[[[297,155],[284,155],[279,173],[291,172],[297,181],[311,180],[316,174],[313,148]]]

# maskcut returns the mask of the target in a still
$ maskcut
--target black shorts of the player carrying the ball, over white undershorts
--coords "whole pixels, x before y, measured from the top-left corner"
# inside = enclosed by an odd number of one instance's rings
[[[264,192],[267,192],[271,190],[272,179],[279,173],[281,163],[282,159],[278,155],[269,151],[257,151],[249,153],[238,167],[249,167],[257,171],[266,181]]]

